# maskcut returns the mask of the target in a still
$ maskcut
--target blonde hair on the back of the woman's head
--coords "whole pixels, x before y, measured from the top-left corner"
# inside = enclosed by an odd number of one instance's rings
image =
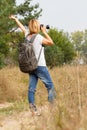
[[[36,19],[31,19],[29,21],[28,27],[29,27],[30,34],[39,33],[40,31],[40,23]]]

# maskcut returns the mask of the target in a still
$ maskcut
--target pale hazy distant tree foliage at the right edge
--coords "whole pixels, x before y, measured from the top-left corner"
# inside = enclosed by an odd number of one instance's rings
[[[77,51],[78,58],[87,63],[87,30],[71,33],[71,40]]]

